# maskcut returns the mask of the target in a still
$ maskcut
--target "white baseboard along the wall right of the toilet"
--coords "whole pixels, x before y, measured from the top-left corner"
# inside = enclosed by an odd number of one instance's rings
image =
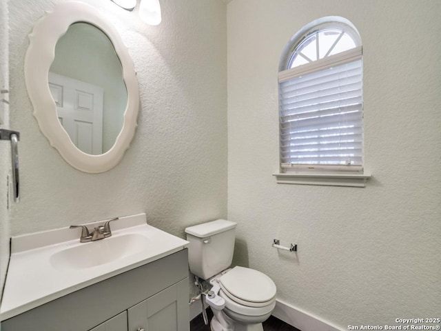
[[[276,308],[274,308],[272,315],[302,331],[343,330],[280,300],[276,300]]]

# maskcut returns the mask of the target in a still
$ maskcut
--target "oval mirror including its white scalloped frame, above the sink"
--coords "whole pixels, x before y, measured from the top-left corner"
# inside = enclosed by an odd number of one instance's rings
[[[119,33],[96,8],[60,3],[37,21],[25,82],[41,132],[65,161],[83,172],[121,161],[136,130],[139,87]]]

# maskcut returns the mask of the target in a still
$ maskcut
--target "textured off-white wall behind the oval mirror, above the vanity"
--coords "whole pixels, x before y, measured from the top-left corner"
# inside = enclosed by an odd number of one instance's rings
[[[86,174],[50,147],[25,89],[28,34],[59,2],[9,3],[11,125],[22,134],[21,203],[12,209],[12,234],[146,212],[148,223],[184,237],[187,225],[226,217],[225,3],[162,1],[163,22],[154,27],[141,22],[137,9],[85,1],[121,33],[141,94],[139,126],[121,163]]]

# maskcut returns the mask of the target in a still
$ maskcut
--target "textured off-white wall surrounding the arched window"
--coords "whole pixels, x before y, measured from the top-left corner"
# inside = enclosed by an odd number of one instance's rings
[[[441,311],[441,2],[234,0],[228,29],[228,217],[235,262],[278,299],[347,330]],[[367,188],[276,184],[280,55],[338,15],[363,44]],[[298,244],[298,253],[277,252]],[[303,330],[306,331],[306,330]]]

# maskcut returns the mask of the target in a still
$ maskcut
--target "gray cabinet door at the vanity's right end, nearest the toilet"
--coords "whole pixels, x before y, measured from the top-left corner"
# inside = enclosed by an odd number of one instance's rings
[[[188,279],[134,305],[127,313],[129,331],[189,331]]]

